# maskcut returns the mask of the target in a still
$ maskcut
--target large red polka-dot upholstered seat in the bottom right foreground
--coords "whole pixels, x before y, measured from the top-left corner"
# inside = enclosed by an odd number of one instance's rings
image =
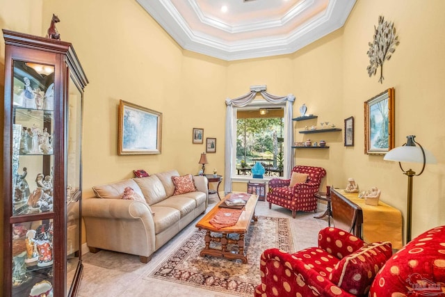
[[[391,256],[390,243],[371,243],[337,228],[318,234],[318,247],[294,254],[265,250],[256,297],[445,296],[445,226],[417,236]]]

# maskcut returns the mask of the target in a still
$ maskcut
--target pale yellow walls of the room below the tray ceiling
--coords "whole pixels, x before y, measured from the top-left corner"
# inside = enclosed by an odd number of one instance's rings
[[[394,87],[396,145],[415,134],[439,161],[414,177],[413,236],[445,224],[445,133],[439,123],[445,113],[445,19],[440,15],[445,1],[359,0],[343,29],[295,54],[234,62],[182,50],[136,1],[0,0],[0,8],[3,28],[37,35],[44,35],[56,13],[61,38],[74,44],[90,80],[84,103],[84,196],[92,195],[95,184],[131,177],[136,168],[197,172],[205,147],[192,144],[193,127],[203,128],[204,138],[217,138],[207,172],[223,172],[224,100],[247,93],[251,85],[266,84],[270,93],[296,95],[294,115],[306,103],[318,122],[329,120],[341,128],[353,115],[354,147],[343,147],[343,133],[298,134],[298,129],[316,122],[293,123],[296,141],[323,137],[330,145],[329,150],[296,151],[296,163],[326,168],[323,186],[342,188],[348,177],[355,177],[363,190],[378,186],[382,200],[405,216],[407,177],[396,163],[364,154],[363,102]],[[366,51],[378,15],[394,22],[401,41],[385,63],[382,84],[366,72]],[[3,67],[3,40],[0,55]],[[162,154],[118,156],[119,99],[163,113]],[[234,185],[237,188],[245,184]]]

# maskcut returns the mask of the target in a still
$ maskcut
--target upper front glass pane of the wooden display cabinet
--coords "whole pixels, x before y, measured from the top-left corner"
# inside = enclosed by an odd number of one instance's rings
[[[13,216],[53,211],[54,65],[13,65]]]

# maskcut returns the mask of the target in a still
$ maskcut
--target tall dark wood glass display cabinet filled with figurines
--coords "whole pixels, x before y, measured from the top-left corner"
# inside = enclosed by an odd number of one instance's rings
[[[88,79],[70,42],[5,29],[3,38],[3,294],[76,296]]]

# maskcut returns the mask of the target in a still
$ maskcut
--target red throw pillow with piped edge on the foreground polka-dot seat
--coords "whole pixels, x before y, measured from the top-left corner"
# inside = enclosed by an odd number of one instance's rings
[[[363,296],[368,294],[375,275],[391,255],[389,241],[363,246],[341,259],[329,279],[350,294]]]

